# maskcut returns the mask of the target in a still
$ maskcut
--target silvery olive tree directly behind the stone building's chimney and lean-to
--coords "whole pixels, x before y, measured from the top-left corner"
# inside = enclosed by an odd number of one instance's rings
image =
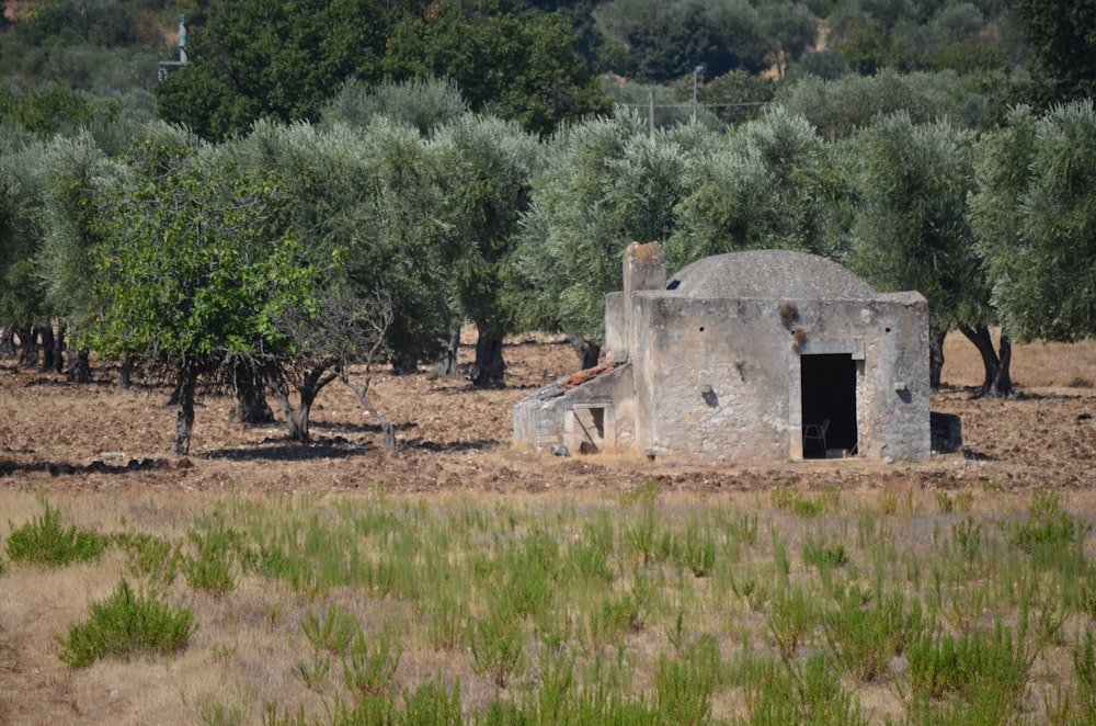
[[[526,328],[567,333],[583,366],[604,340],[604,296],[620,287],[629,242],[674,231],[686,157],[713,135],[677,127],[652,139],[635,116],[569,127],[552,138],[534,179],[516,253]]]

